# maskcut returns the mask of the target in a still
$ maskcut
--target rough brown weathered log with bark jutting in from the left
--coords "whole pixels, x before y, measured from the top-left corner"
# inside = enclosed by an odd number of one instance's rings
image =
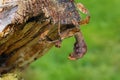
[[[0,6],[1,74],[23,70],[57,41],[80,31],[76,27],[80,16],[74,3],[69,0],[13,2],[4,2]]]

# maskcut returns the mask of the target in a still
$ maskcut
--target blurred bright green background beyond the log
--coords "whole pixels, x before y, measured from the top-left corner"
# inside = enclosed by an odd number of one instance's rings
[[[26,80],[120,80],[120,0],[75,0],[83,3],[91,21],[81,30],[88,45],[86,55],[68,60],[74,38],[63,41],[32,63]]]

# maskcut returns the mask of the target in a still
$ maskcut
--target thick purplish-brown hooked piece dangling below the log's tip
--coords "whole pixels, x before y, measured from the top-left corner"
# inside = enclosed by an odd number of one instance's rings
[[[79,32],[75,35],[76,42],[74,44],[74,52],[69,55],[70,60],[76,60],[84,56],[87,52],[87,46],[83,39],[82,33]]]

